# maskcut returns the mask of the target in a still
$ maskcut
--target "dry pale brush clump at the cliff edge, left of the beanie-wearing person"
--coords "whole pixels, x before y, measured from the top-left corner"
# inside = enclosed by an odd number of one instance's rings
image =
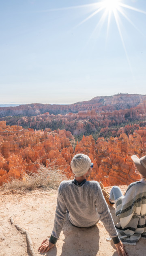
[[[49,169],[41,165],[37,173],[24,174],[21,180],[12,177],[11,181],[4,183],[0,187],[0,190],[57,189],[62,180],[67,180],[67,176],[62,174],[60,169],[55,167]]]

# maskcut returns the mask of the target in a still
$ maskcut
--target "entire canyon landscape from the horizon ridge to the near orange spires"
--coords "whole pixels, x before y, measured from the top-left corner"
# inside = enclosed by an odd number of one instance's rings
[[[94,163],[90,180],[104,186],[138,180],[131,156],[146,155],[146,96],[0,108],[0,185],[33,175],[40,165],[73,178],[70,163],[78,153]]]

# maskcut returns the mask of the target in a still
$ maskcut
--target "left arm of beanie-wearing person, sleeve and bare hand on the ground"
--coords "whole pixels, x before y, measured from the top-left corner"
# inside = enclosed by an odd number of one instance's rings
[[[52,231],[52,234],[50,238],[45,239],[41,246],[39,247],[39,251],[42,252],[48,252],[50,248],[52,248],[56,243],[60,236],[60,232],[62,230],[65,216],[66,216],[67,210],[66,206],[64,204],[64,200],[61,195],[61,184],[58,188],[58,196],[57,196],[57,206],[56,206],[56,213],[55,213],[55,219],[54,219],[54,228]],[[46,250],[48,249],[48,250]]]

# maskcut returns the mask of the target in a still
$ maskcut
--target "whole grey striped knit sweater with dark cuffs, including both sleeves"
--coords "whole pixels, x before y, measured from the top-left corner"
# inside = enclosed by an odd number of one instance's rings
[[[85,179],[82,183],[77,183],[76,180],[60,183],[54,228],[49,239],[52,243],[56,243],[60,236],[67,209],[69,220],[73,225],[90,227],[100,219],[110,237],[113,238],[114,243],[120,241],[110,210],[97,181],[87,181]]]

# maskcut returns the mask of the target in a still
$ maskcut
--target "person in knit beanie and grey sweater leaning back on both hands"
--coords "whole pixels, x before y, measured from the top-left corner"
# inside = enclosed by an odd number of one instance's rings
[[[103,197],[101,187],[97,181],[87,181],[93,164],[88,156],[77,154],[71,161],[71,169],[75,174],[74,180],[65,180],[58,188],[57,207],[54,228],[51,237],[45,239],[39,247],[39,252],[48,252],[52,248],[62,230],[65,216],[68,213],[69,221],[73,226],[93,227],[99,219],[110,234],[118,255],[128,255],[115,229],[112,215]],[[89,232],[89,230],[88,230]],[[89,237],[89,246],[92,243]]]

